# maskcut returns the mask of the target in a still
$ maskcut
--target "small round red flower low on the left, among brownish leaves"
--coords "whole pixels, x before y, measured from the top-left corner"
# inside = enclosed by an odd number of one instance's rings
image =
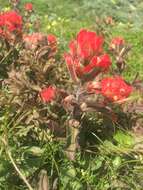
[[[56,89],[53,86],[43,89],[40,92],[43,102],[51,102],[56,97]]]

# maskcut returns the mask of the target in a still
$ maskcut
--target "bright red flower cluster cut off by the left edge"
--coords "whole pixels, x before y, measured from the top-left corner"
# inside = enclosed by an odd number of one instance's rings
[[[12,34],[22,32],[22,17],[15,11],[0,14],[0,36],[11,39]]]

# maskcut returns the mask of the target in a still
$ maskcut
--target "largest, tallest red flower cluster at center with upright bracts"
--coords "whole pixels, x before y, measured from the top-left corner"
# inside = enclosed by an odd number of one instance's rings
[[[108,54],[102,53],[102,45],[103,38],[88,30],[81,30],[70,42],[70,53],[65,53],[64,58],[73,80],[90,73],[95,77],[109,69],[111,60]]]

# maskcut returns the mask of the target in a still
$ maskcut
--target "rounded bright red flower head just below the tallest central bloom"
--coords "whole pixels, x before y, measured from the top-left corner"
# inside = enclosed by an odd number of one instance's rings
[[[118,101],[127,98],[133,88],[121,77],[108,77],[101,81],[101,93],[111,101]]]

